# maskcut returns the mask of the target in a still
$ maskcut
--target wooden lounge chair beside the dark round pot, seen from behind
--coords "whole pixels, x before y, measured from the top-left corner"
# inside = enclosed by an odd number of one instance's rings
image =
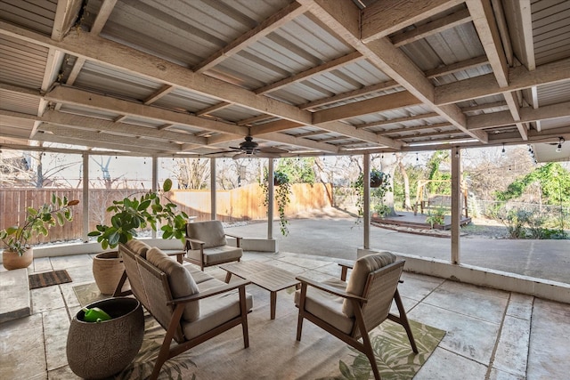
[[[132,292],[167,330],[151,380],[159,376],[165,361],[232,327],[241,325],[243,345],[248,348],[248,312],[253,308],[253,297],[245,291],[249,281],[226,284],[136,240],[118,249],[125,274],[115,295]],[[131,290],[123,292],[126,278]]]

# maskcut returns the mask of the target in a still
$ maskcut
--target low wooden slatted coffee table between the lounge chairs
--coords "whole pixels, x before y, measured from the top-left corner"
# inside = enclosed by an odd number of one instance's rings
[[[220,265],[227,271],[225,282],[229,283],[232,274],[241,279],[248,279],[258,287],[269,290],[271,296],[271,319],[275,319],[275,306],[277,303],[277,292],[288,287],[300,286],[300,282],[295,279],[295,275],[290,271],[275,268],[273,265],[258,262],[240,262]]]

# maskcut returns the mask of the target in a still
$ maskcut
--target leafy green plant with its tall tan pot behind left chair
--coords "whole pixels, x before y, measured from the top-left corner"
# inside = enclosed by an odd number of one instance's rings
[[[119,243],[134,239],[139,230],[150,226],[156,231],[158,225],[162,224],[162,239],[175,238],[183,244],[188,214],[177,211],[176,205],[164,195],[171,189],[172,181],[167,179],[162,190],[147,191],[142,195],[135,193],[113,201],[107,207],[107,212],[113,214],[110,225],[98,224],[96,230],[89,232],[88,236],[96,237],[103,249],[115,248]],[[95,255],[93,265],[97,287],[103,295],[112,294],[124,270],[118,251]]]

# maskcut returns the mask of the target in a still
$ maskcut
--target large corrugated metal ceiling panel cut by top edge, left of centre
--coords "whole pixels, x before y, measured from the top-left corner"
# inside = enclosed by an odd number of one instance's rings
[[[102,35],[193,67],[289,3],[289,0],[121,0]]]

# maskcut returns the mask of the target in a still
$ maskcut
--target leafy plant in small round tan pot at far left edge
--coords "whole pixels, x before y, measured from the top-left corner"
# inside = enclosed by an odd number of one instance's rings
[[[52,201],[39,207],[28,207],[26,218],[20,225],[0,230],[0,240],[6,249],[2,253],[2,263],[7,270],[27,268],[34,260],[34,253],[28,240],[37,235],[48,235],[54,225],[62,226],[73,220],[71,206],[79,203],[67,197],[52,194]]]

